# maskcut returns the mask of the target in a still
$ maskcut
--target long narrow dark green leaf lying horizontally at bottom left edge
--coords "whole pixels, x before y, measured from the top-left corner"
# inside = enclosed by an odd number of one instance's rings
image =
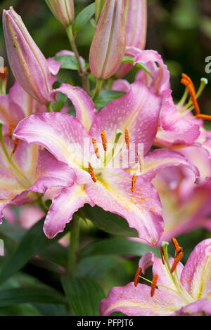
[[[25,287],[0,291],[0,307],[19,303],[66,303],[61,293],[44,287]]]

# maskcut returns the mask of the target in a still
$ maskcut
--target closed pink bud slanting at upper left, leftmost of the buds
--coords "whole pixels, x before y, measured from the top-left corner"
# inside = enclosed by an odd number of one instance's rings
[[[3,28],[8,61],[15,79],[39,103],[49,104],[52,89],[49,65],[12,7],[3,11]]]

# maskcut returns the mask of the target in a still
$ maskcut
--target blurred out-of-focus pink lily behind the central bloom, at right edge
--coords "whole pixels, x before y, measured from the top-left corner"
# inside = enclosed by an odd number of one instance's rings
[[[194,154],[200,158],[199,150]],[[207,162],[205,157],[202,159]],[[159,192],[165,223],[160,243],[198,227],[211,231],[210,180],[194,184],[194,178],[187,169],[174,167],[160,171],[153,179],[153,185]]]

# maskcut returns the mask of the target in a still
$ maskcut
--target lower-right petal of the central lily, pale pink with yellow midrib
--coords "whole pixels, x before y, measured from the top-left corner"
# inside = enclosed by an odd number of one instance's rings
[[[96,183],[86,185],[86,192],[94,204],[125,218],[141,239],[155,246],[163,230],[158,192],[141,176],[137,176],[135,190],[131,192],[131,180],[126,171],[105,170]]]

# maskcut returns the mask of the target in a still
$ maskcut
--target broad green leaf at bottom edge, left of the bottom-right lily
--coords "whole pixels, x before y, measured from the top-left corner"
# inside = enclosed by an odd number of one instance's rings
[[[63,289],[70,308],[77,316],[98,316],[101,300],[105,298],[101,286],[93,279],[62,277]]]

